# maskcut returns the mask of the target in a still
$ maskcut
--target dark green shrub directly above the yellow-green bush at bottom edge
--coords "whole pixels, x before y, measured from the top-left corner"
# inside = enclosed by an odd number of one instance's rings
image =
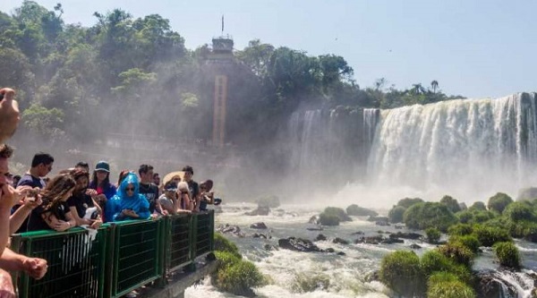
[[[448,272],[456,275],[459,280],[466,284],[469,284],[472,280],[470,268],[463,264],[456,264],[454,260],[447,258],[439,250],[430,250],[423,253],[420,264],[425,278],[434,275],[436,272]]]

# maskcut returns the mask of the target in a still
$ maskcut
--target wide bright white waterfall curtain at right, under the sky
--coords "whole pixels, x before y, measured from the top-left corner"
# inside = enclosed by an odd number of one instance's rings
[[[537,183],[535,101],[534,93],[522,93],[382,111],[369,175],[383,185],[438,188],[463,197],[516,194]]]

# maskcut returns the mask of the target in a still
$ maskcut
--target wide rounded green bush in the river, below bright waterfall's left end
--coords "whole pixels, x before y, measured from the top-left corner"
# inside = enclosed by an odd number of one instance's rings
[[[413,229],[427,229],[436,227],[446,232],[449,226],[455,225],[458,220],[446,205],[437,202],[422,202],[406,209],[403,217],[405,225]]]

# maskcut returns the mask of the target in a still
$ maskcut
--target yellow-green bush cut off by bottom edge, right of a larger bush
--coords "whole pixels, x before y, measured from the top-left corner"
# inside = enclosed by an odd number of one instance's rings
[[[430,298],[474,298],[473,288],[461,282],[455,275],[438,272],[429,278],[427,297]]]

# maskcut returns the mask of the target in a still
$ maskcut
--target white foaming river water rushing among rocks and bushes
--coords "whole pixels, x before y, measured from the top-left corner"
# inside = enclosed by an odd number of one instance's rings
[[[216,226],[230,224],[239,226],[245,237],[226,235],[228,239],[237,244],[243,258],[251,260],[260,271],[269,277],[270,284],[255,290],[260,297],[390,297],[393,296],[386,286],[379,282],[368,281],[368,276],[379,269],[380,260],[390,251],[410,250],[409,245],[417,243],[422,249],[415,250],[421,255],[424,251],[434,248],[433,245],[420,241],[405,240],[400,244],[354,244],[354,240],[361,236],[378,235],[379,231],[396,233],[394,226],[375,226],[363,217],[353,217],[352,222],[342,223],[340,226],[327,226],[323,231],[309,231],[310,217],[318,215],[323,208],[308,205],[283,205],[273,210],[268,216],[245,216],[244,212],[254,209],[251,203],[232,203],[223,206],[223,213],[217,214]],[[250,225],[263,222],[268,230],[251,229]],[[354,234],[362,232],[363,234]],[[415,231],[413,231],[415,232]],[[271,239],[253,238],[251,234],[270,234]],[[285,249],[267,251],[266,244],[277,247],[277,240],[290,236],[302,237],[313,241],[318,234],[327,236],[327,241],[315,242],[321,249],[333,248],[336,252],[343,251],[345,255],[326,252],[297,252]],[[388,236],[388,235],[385,235]],[[336,244],[332,240],[340,237],[349,241],[349,244]],[[533,279],[528,273],[537,271],[537,245],[527,242],[516,242],[524,263],[524,271],[508,274],[497,272],[497,278],[506,286],[516,287],[518,294],[515,297],[531,297]],[[497,269],[493,252],[485,250],[475,260],[474,269]],[[328,278],[327,288],[319,288],[313,292],[300,293],[296,290],[298,277],[312,277],[320,275]],[[186,297],[237,297],[233,294],[217,292],[206,278],[200,285],[192,286],[185,292]]]

